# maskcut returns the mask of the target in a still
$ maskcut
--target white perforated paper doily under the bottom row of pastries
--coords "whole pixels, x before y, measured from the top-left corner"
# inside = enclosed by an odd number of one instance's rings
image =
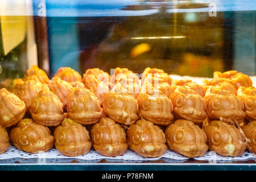
[[[11,158],[23,158],[23,159],[33,159],[33,158],[44,158],[44,159],[82,159],[82,160],[97,160],[97,159],[122,159],[122,160],[141,160],[141,161],[150,161],[150,160],[158,160],[161,158],[167,158],[167,159],[174,159],[174,160],[187,160],[189,158],[177,154],[174,151],[167,150],[166,153],[161,156],[160,158],[144,158],[143,156],[131,151],[127,150],[125,154],[121,156],[115,156],[115,157],[106,157],[103,155],[98,154],[95,150],[90,150],[85,155],[80,155],[76,157],[68,157],[65,155],[60,154],[59,151],[56,150],[56,148],[52,148],[51,150],[47,152],[42,152],[39,154],[30,154],[28,152],[24,152],[19,150],[18,148],[14,146],[10,146],[9,149],[0,155],[0,160],[2,159],[11,159]],[[206,160],[206,161],[214,161],[214,160],[247,160],[247,159],[253,159],[255,158],[255,155],[245,151],[243,155],[236,156],[236,157],[229,157],[229,156],[221,156],[216,154],[214,151],[208,151],[204,156],[193,158],[196,160]]]

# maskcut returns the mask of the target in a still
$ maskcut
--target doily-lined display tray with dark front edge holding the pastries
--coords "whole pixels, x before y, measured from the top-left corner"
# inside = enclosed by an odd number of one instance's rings
[[[173,80],[191,79],[198,84],[202,77],[170,75]],[[256,76],[251,76],[256,85]],[[159,158],[144,158],[131,150],[115,157],[106,157],[90,150],[87,154],[68,157],[60,154],[56,148],[39,154],[30,154],[11,145],[0,155],[0,170],[256,170],[255,154],[245,151],[243,155],[221,156],[214,151],[207,151],[204,156],[187,158],[174,151],[167,150]]]

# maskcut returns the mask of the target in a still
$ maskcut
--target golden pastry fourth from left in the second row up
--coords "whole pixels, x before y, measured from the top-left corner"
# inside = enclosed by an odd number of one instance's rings
[[[138,102],[131,94],[106,94],[103,109],[110,118],[123,125],[131,125],[138,119]]]

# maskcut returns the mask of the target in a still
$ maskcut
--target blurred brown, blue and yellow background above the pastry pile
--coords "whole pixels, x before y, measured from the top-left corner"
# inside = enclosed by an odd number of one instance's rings
[[[0,3],[0,81],[33,64],[52,77],[59,67],[146,67],[212,77],[236,69],[256,75],[255,1],[67,1]]]

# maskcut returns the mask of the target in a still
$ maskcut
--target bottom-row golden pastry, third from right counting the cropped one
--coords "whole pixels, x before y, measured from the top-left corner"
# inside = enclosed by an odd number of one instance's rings
[[[171,150],[189,158],[203,156],[209,148],[204,130],[192,121],[178,119],[167,127],[165,133]]]

